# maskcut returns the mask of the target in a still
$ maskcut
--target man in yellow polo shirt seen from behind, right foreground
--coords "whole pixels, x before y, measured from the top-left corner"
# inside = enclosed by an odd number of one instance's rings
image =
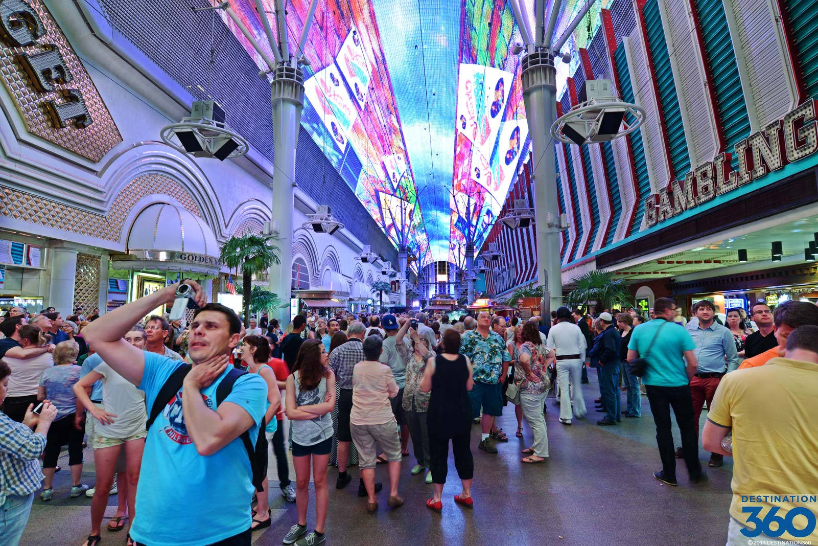
[[[816,408],[818,326],[789,333],[785,358],[721,379],[702,444],[734,459],[726,546],[818,544]]]

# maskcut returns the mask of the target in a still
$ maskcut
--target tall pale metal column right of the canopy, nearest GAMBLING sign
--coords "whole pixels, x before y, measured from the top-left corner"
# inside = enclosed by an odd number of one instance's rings
[[[560,218],[551,125],[556,120],[554,57],[539,49],[523,57],[523,100],[534,161],[534,217],[537,223],[537,285],[546,287],[548,307],[562,305]],[[550,213],[550,214],[549,214]],[[548,219],[551,219],[549,223]],[[546,318],[547,319],[547,318]]]

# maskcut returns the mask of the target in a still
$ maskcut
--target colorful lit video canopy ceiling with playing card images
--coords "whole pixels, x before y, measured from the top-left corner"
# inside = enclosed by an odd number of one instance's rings
[[[275,2],[262,3],[276,32]],[[521,3],[534,28],[533,0]],[[558,29],[583,2],[563,3]],[[291,49],[308,5],[287,4]],[[269,48],[254,0],[231,7]],[[306,51],[293,53],[310,63],[302,129],[335,167],[316,175],[353,188],[421,265],[463,264],[467,241],[482,246],[528,156],[514,43],[522,38],[506,0],[319,0]]]

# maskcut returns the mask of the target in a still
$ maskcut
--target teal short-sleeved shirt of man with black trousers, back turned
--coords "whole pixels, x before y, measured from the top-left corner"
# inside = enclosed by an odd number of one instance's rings
[[[666,326],[662,327],[663,324]],[[662,327],[662,332],[656,336],[659,327]],[[651,346],[654,336],[656,341]],[[654,318],[633,329],[627,348],[635,350],[648,361],[645,375],[642,376],[645,385],[683,386],[690,383],[684,352],[694,350],[696,345],[685,327],[668,323],[664,318]]]

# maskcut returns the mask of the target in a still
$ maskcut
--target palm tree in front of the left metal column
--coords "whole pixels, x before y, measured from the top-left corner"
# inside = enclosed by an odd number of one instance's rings
[[[249,327],[253,275],[267,271],[272,264],[281,264],[278,247],[270,245],[270,239],[272,237],[268,235],[254,233],[248,233],[244,237],[230,237],[224,242],[222,253],[218,257],[220,264],[241,272],[245,327]]]

